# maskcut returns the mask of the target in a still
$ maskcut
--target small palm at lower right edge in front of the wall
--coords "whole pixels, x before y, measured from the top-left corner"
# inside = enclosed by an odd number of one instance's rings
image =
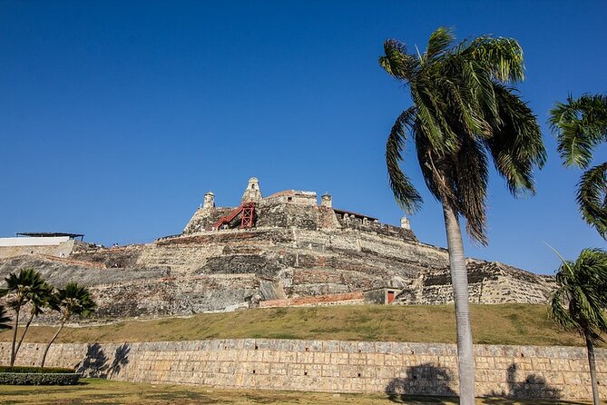
[[[550,316],[563,328],[577,331],[583,337],[588,351],[594,405],[599,405],[599,386],[596,380],[594,343],[604,341],[607,332],[607,252],[584,249],[575,262],[563,264],[556,273],[558,289],[550,303]]]

